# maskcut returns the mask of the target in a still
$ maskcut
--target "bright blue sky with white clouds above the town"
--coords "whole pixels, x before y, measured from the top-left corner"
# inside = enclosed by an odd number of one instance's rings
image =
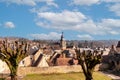
[[[0,0],[0,36],[120,39],[120,0]]]

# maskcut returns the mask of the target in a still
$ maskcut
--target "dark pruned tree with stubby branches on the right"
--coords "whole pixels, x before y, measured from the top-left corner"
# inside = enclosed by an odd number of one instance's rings
[[[81,65],[83,69],[83,73],[85,75],[86,80],[93,80],[93,71],[97,64],[101,62],[101,57],[103,51],[91,51],[91,50],[84,50],[80,52],[80,49],[76,49],[78,63]]]

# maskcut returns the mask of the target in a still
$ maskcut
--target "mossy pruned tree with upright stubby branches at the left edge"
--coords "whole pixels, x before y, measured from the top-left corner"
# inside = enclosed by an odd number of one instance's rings
[[[2,42],[0,46],[0,59],[5,61],[10,69],[11,80],[17,80],[17,69],[20,61],[28,55],[29,45],[25,42]]]

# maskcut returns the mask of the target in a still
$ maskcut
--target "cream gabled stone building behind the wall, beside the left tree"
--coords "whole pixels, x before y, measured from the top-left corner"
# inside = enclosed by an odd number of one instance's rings
[[[34,54],[30,54],[24,58],[19,66],[49,67],[47,63],[47,56],[43,54],[42,49],[39,49]]]

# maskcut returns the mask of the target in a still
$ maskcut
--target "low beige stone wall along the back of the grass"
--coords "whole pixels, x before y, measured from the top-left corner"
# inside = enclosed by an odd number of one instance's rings
[[[104,65],[97,65],[94,71],[105,69]],[[70,73],[70,72],[82,72],[80,65],[72,66],[52,66],[52,67],[19,67],[18,75],[25,76],[28,74],[51,74],[51,73]]]

